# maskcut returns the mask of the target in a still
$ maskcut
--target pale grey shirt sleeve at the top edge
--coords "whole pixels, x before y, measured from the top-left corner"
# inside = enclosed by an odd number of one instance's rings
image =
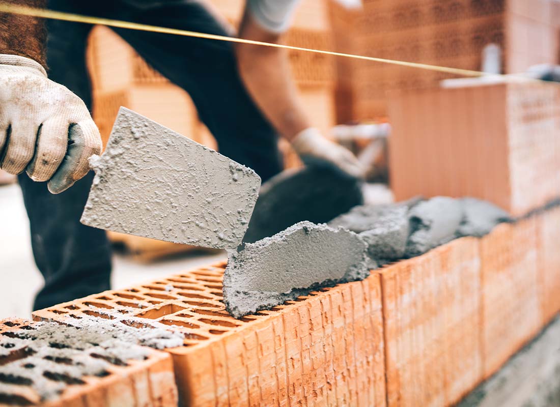
[[[290,27],[300,0],[247,0],[251,16],[265,30],[280,34]]]

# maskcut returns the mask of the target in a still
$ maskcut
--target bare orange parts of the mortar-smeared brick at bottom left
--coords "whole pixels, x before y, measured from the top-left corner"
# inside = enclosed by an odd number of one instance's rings
[[[25,335],[34,329],[35,322],[22,319],[0,320],[0,335],[12,338]],[[16,336],[17,337],[17,336]],[[52,346],[56,350],[55,346]],[[81,384],[69,384],[59,399],[41,402],[41,397],[26,384],[0,375],[0,406],[37,405],[41,407],[94,407],[94,406],[175,406],[177,390],[173,381],[173,365],[169,354],[146,348],[150,351],[143,361],[127,360],[127,366],[113,364],[106,368],[106,376],[82,376],[72,378]],[[25,350],[17,350],[7,357],[0,357],[0,367],[7,363],[25,364],[29,357]],[[93,360],[93,359],[92,359]],[[64,366],[68,361],[53,361]],[[122,363],[122,362],[121,362]],[[1,369],[1,368],[0,368]],[[48,371],[48,368],[45,369]],[[53,385],[58,379],[53,380]]]

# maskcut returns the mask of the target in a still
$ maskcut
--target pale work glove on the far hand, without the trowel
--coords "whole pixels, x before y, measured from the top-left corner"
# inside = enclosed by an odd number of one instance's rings
[[[353,177],[364,176],[365,171],[356,156],[323,137],[318,129],[309,128],[298,133],[292,141],[292,147],[306,164],[330,163]]]

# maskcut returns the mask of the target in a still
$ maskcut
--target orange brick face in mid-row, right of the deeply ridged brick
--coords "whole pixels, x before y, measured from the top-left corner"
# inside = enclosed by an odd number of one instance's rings
[[[482,379],[478,240],[380,270],[389,406],[453,405]]]

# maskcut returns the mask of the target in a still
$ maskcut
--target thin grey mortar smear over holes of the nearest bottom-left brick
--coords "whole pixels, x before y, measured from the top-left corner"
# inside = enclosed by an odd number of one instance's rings
[[[81,383],[84,376],[103,376],[113,364],[124,366],[130,359],[143,360],[151,350],[141,344],[180,346],[183,337],[158,329],[114,326],[102,319],[73,320],[74,326],[35,322],[31,329],[16,329],[0,336],[0,346],[25,349],[27,357],[0,366],[4,382],[30,386],[41,400],[56,399],[68,383]],[[165,336],[164,339],[157,339]],[[58,378],[57,378],[58,377]],[[65,381],[61,381],[64,377]],[[0,392],[10,394],[10,384]]]

